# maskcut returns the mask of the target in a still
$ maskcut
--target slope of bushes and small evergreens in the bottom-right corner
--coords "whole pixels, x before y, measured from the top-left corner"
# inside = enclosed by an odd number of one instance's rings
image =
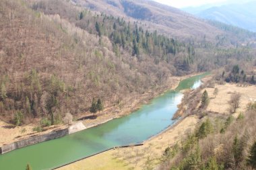
[[[253,104],[255,105],[255,103]],[[168,157],[160,169],[252,169],[255,142],[255,110],[250,105],[245,115],[209,119],[183,142],[166,148]],[[224,127],[224,128],[222,128]],[[250,151],[250,149],[252,150]],[[251,162],[250,162],[251,161]]]

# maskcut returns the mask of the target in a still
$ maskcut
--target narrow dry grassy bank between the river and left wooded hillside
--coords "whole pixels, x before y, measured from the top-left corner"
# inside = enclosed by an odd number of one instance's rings
[[[130,114],[135,110],[138,110],[141,105],[150,102],[150,100],[154,97],[161,95],[168,90],[175,89],[179,85],[180,81],[182,81],[183,79],[187,79],[188,77],[192,77],[195,75],[199,75],[199,73],[193,75],[186,75],[183,77],[170,77],[168,79],[169,85],[167,90],[164,89],[158,92],[149,91],[148,93],[144,93],[143,95],[130,97],[126,99],[126,101],[123,101],[123,103],[126,104],[106,108],[104,111],[98,114],[96,119],[75,121],[73,122],[73,124],[76,124],[77,122],[82,122],[86,128],[91,128],[93,126],[98,126],[100,124],[106,123],[109,120],[113,120],[114,118],[120,118],[122,116]],[[81,120],[83,117],[86,118],[88,116],[90,117],[90,113],[81,114],[81,116],[79,116],[79,119]],[[6,144],[11,144],[13,142],[18,142],[20,140],[32,138],[34,136],[50,134],[53,131],[68,128],[67,125],[56,125],[46,128],[46,130],[44,130],[43,132],[35,132],[33,129],[36,126],[37,124],[29,124],[26,126],[13,126],[12,124],[8,124],[7,122],[3,122],[0,120],[0,147]],[[78,132],[79,130],[84,130],[84,128],[78,128],[76,132]]]

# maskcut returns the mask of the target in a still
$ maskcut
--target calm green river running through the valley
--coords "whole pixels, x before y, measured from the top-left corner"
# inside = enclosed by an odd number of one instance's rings
[[[53,169],[114,146],[143,142],[176,122],[171,119],[183,97],[180,91],[199,87],[205,75],[181,81],[177,89],[167,91],[123,118],[0,155],[0,169],[22,170],[28,163],[33,170]]]

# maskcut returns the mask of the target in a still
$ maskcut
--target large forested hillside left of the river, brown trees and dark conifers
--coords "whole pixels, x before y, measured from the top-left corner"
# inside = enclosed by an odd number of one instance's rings
[[[3,0],[0,6],[0,114],[16,125],[57,124],[69,112],[88,112],[93,98],[121,105],[167,89],[172,75],[255,60],[255,50],[237,39],[235,45],[225,36],[216,44],[181,41],[73,1]]]

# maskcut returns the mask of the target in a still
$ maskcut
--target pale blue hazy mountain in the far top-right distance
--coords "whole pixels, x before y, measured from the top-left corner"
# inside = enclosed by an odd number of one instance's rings
[[[191,7],[183,10],[203,19],[211,19],[256,32],[256,1],[222,5],[220,7]]]

